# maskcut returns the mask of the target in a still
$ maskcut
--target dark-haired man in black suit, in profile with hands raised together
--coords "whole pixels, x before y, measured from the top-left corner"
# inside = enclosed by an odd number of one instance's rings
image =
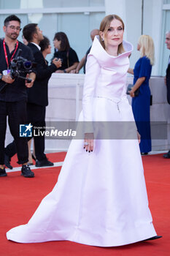
[[[45,127],[45,109],[48,105],[47,84],[50,76],[61,67],[61,60],[54,59],[53,64],[47,66],[44,56],[40,51],[39,42],[44,39],[42,31],[36,23],[30,23],[23,28],[23,36],[28,41],[36,62],[36,80],[34,88],[28,89],[28,123],[34,127]],[[47,160],[45,151],[45,135],[34,137],[36,167],[53,166],[53,162]]]

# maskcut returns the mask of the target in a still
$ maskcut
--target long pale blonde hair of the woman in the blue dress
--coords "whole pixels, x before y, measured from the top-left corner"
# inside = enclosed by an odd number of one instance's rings
[[[140,46],[141,57],[146,56],[150,59],[150,64],[153,65],[155,61],[155,48],[152,37],[142,34],[142,36],[139,37],[138,43]]]

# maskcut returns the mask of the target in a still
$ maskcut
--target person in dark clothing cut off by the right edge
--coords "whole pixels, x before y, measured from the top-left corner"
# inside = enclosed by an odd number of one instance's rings
[[[170,50],[170,31],[166,32],[166,47]],[[169,64],[166,69],[166,77],[165,77],[165,83],[167,88],[167,101],[170,104],[170,56],[169,56]],[[170,150],[168,153],[163,154],[164,158],[170,158]]]

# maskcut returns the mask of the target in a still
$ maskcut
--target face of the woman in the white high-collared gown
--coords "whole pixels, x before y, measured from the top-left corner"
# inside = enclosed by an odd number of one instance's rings
[[[105,34],[101,32],[101,38],[104,39],[104,44],[105,46],[108,47],[118,47],[121,42],[123,42],[123,24],[121,23],[120,20],[112,20],[109,29],[107,33]]]

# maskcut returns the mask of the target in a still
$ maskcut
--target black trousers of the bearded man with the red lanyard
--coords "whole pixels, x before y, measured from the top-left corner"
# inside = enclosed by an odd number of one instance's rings
[[[18,164],[28,162],[28,143],[26,138],[20,138],[20,124],[26,124],[26,100],[20,102],[0,101],[0,165],[4,165],[4,142],[7,129],[7,116],[10,132],[15,139],[18,153]],[[15,152],[16,153],[16,152]]]

